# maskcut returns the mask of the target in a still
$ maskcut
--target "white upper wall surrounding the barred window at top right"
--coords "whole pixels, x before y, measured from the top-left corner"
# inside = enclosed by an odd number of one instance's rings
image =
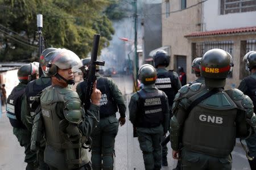
[[[256,11],[220,15],[220,0],[204,2],[203,9],[203,31],[256,25]]]

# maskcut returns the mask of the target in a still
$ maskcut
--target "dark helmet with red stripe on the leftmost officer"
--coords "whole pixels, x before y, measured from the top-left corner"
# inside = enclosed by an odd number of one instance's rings
[[[27,84],[28,82],[36,79],[36,75],[38,74],[38,67],[33,63],[28,63],[26,65],[20,66],[17,74],[19,82]]]

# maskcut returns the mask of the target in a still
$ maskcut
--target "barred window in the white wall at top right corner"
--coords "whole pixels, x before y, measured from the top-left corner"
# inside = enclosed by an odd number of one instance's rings
[[[221,0],[220,14],[256,11],[256,0]]]

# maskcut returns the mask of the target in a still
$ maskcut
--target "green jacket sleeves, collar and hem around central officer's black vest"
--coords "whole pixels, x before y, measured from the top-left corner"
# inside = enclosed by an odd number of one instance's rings
[[[147,87],[147,86],[144,86],[143,89],[146,91],[146,92],[151,92],[155,89],[155,87]],[[136,114],[138,114],[138,111],[139,111],[139,108],[138,108],[138,99],[139,99],[139,96],[137,94],[137,92],[135,92],[132,96],[131,96],[131,100],[130,100],[130,103],[129,103],[129,115],[130,115],[130,121],[131,123],[134,125],[135,122],[136,122]],[[169,107],[168,107],[168,98],[166,96],[166,113],[164,113],[164,121],[163,121],[163,131],[164,133],[167,133],[168,131],[168,126],[169,126]],[[162,129],[161,125],[158,126],[158,127],[155,127],[155,128],[150,128],[150,129]],[[139,131],[144,131],[147,133],[149,128],[137,128],[137,130]],[[156,130],[158,131],[158,130]]]

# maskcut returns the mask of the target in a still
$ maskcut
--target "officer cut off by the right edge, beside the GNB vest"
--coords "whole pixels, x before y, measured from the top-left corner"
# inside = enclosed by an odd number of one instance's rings
[[[256,52],[251,51],[248,52],[245,57],[243,57],[243,61],[246,63],[247,69],[249,69],[251,75],[244,78],[240,86],[238,87],[245,95],[248,95],[251,100],[253,100],[253,105],[256,106]],[[256,113],[256,109],[254,107],[254,113]],[[249,164],[251,169],[256,169],[256,134],[251,135],[250,138],[246,139],[247,147],[249,148]],[[254,158],[254,159],[253,159]]]

